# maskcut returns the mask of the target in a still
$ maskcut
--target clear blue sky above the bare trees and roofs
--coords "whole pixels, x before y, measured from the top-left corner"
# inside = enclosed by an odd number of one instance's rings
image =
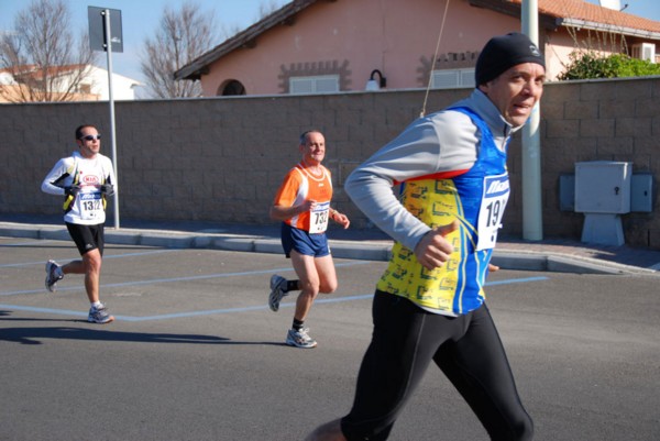
[[[112,53],[112,71],[143,81],[140,70],[140,54],[146,37],[155,35],[165,7],[178,10],[185,0],[64,0],[72,12],[72,24],[80,31],[89,30],[88,7],[108,8],[121,11],[123,53]],[[215,14],[220,30],[244,30],[260,19],[262,7],[277,9],[290,0],[188,0],[200,7],[205,13]],[[598,0],[586,0],[598,4]],[[613,0],[609,0],[610,2]],[[616,0],[614,0],[616,1]],[[660,0],[620,0],[625,12],[660,21]],[[26,9],[28,0],[0,0],[0,32],[11,32],[15,14]],[[79,32],[75,32],[76,35]],[[226,33],[221,32],[221,35]],[[217,42],[222,43],[224,38]],[[99,67],[107,68],[107,58],[100,53]]]

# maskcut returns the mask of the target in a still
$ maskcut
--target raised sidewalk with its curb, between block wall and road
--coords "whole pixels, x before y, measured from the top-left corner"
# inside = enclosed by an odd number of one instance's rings
[[[111,222],[111,220],[110,220]],[[279,227],[212,222],[153,222],[121,220],[120,229],[106,228],[109,244],[216,249],[282,253]],[[0,216],[0,235],[70,240],[61,217]],[[328,232],[337,258],[386,261],[392,240],[373,230],[331,229]],[[572,240],[530,242],[499,239],[493,264],[505,269],[550,271],[580,274],[645,274],[660,276],[660,251],[627,245],[607,246]]]

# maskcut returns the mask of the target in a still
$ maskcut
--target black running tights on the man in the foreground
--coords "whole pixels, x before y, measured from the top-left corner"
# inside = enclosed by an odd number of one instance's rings
[[[468,401],[492,440],[531,440],[531,418],[520,403],[485,305],[454,318],[376,291],[373,320],[372,342],[358,376],[353,408],[341,420],[346,439],[387,439],[432,361]]]

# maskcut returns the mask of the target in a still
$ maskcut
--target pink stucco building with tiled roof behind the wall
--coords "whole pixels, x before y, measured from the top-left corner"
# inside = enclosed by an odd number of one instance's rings
[[[660,22],[582,0],[538,4],[549,79],[576,48],[654,62]],[[175,78],[201,80],[206,97],[355,91],[369,79],[388,89],[472,87],[479,51],[520,31],[520,10],[521,0],[295,0]]]

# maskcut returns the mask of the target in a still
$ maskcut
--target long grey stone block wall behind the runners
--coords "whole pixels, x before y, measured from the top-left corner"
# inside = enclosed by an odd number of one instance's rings
[[[468,96],[431,91],[427,113]],[[656,214],[660,174],[660,79],[546,85],[541,106],[543,234],[580,239],[584,216],[560,210],[559,177],[582,161],[629,161],[654,176],[653,212],[623,217],[626,242],[660,249]],[[299,159],[298,135],[326,134],[334,206],[354,228],[371,223],[343,192],[351,170],[419,117],[424,90],[321,96],[118,101],[120,217],[272,223],[268,208],[284,174]],[[91,123],[112,157],[107,102],[0,104],[0,210],[44,214],[59,200],[40,190],[55,162],[76,148],[74,130]],[[521,236],[520,134],[509,147],[513,195],[503,234]],[[109,212],[112,224],[112,208]]]

